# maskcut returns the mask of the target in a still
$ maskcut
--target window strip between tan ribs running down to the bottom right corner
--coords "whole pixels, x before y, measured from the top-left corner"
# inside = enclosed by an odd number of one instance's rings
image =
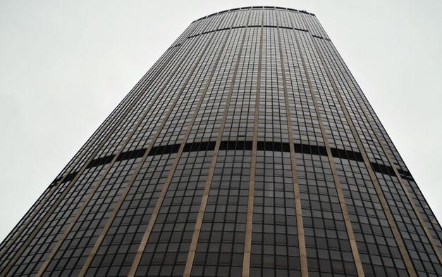
[[[438,267],[440,264],[441,255],[438,252],[438,247],[434,243],[429,228],[427,228],[426,221],[419,212],[417,203],[412,197],[412,192],[408,191],[405,180],[398,172],[398,165],[395,165],[391,153],[386,149],[378,131],[374,129],[372,120],[367,116],[367,112],[357,97],[357,91],[354,92],[352,86],[348,84],[348,78],[343,75],[340,64],[333,63],[333,54],[327,51],[329,42],[324,41],[324,39],[314,39],[314,41],[318,51],[322,51],[320,55],[323,58],[324,66],[328,68],[330,78],[333,78],[331,81],[336,86],[337,93],[340,95],[339,97],[342,99],[342,103],[348,112],[349,120],[355,126],[355,131],[357,131],[357,135],[361,139],[361,145],[367,152],[369,160],[391,169],[388,174],[377,173],[377,177],[380,178],[379,180],[386,180],[386,185],[381,184],[381,187],[387,200],[391,198],[392,202],[389,205],[393,209],[393,216],[397,221],[405,245],[407,245],[407,250],[410,252],[410,256],[412,256],[415,269],[420,271],[420,273],[418,272],[419,274],[436,273],[437,269],[434,266]],[[417,258],[417,255],[419,255],[419,258]],[[429,262],[433,259],[431,257],[436,257],[438,262]]]

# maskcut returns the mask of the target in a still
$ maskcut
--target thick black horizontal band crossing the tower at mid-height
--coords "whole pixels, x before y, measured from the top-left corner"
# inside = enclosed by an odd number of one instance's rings
[[[193,142],[193,143],[185,143],[183,152],[195,152],[195,151],[210,151],[215,149],[215,141],[205,141],[205,142]],[[312,144],[300,144],[295,143],[295,153],[302,154],[310,154],[310,155],[321,155],[326,156],[327,150],[324,146],[315,146]],[[154,146],[150,149],[148,156],[154,155],[164,155],[164,154],[172,154],[178,153],[180,149],[180,144],[171,144],[167,146]],[[252,141],[221,141],[219,145],[219,150],[252,150]],[[274,151],[274,152],[290,152],[290,144],[286,142],[277,142],[277,141],[257,141],[257,150],[258,151]],[[338,148],[330,148],[331,155],[333,157],[337,157],[345,160],[355,160],[357,162],[364,162],[362,159],[362,155],[359,152]],[[121,160],[130,160],[136,159],[137,157],[142,157],[145,155],[147,148],[142,148],[138,150],[130,150],[121,153],[116,158],[116,161]],[[107,155],[104,157],[99,157],[90,161],[86,168],[98,167],[99,165],[106,165],[111,162],[115,155]],[[381,174],[388,174],[391,176],[395,176],[395,172],[393,167],[382,165],[376,162],[371,162],[372,169],[374,172],[379,172]],[[403,179],[407,179],[410,181],[415,181],[411,176],[410,172],[404,171],[402,169],[398,169],[400,176]],[[63,182],[72,181],[78,172],[73,172],[66,175],[66,178],[63,177],[57,178],[52,181],[50,186],[55,186],[59,181],[63,180]]]

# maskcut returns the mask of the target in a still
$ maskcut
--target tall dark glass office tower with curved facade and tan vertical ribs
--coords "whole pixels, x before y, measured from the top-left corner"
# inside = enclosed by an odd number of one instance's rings
[[[442,276],[441,226],[317,18],[192,22],[1,243],[1,276]]]

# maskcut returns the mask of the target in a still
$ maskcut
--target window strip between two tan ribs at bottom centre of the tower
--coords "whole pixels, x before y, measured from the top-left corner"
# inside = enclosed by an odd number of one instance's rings
[[[233,58],[231,65],[227,65],[228,73],[228,105],[223,113],[220,131],[216,143],[219,150],[216,153],[216,162],[213,164],[213,175],[207,195],[207,204],[204,208],[201,228],[197,239],[195,257],[193,260],[191,276],[240,276],[241,261],[243,259],[245,216],[247,214],[247,186],[250,174],[250,148],[245,143],[235,141],[239,125],[238,114],[248,110],[247,99],[252,100],[252,92],[245,89],[245,72],[247,72],[247,51],[253,43],[253,29],[247,25],[250,18],[256,13],[248,13],[247,21],[243,26],[233,32],[238,34],[235,44],[231,46],[230,53]],[[233,70],[232,70],[233,69]],[[238,98],[244,98],[244,102]],[[243,110],[244,109],[244,110]],[[247,128],[247,127],[246,127]],[[221,141],[223,137],[231,141]],[[216,146],[217,147],[217,146]],[[214,160],[212,160],[214,162]],[[195,241],[194,240],[194,241]]]

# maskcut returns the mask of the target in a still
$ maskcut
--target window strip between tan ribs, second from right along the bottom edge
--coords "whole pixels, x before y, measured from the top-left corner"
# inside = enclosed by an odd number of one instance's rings
[[[312,52],[310,56],[317,57],[315,60],[317,60],[317,65],[319,65],[317,68],[321,75],[326,76],[326,72],[320,66],[319,56],[314,50],[312,39],[307,34],[304,36],[304,43],[310,46],[311,50],[309,51]],[[324,83],[327,84],[325,86],[327,89],[324,92],[328,97],[322,100],[322,110],[328,115],[327,117],[333,118],[337,115],[338,120],[344,120],[340,125],[331,126],[330,136],[338,134],[337,127],[342,126],[340,128],[348,130],[346,131],[350,133],[348,136],[353,137],[350,125],[345,122],[344,112],[340,108],[340,103],[328,78],[324,78]],[[343,139],[341,140],[343,141]],[[354,146],[352,143],[351,151],[336,148],[331,150],[333,157],[335,157],[336,171],[343,187],[364,273],[366,275],[407,275],[405,263],[398,245],[395,243],[395,236],[381,205],[381,200],[376,193],[372,176],[369,175],[355,139],[352,141],[354,141]]]

